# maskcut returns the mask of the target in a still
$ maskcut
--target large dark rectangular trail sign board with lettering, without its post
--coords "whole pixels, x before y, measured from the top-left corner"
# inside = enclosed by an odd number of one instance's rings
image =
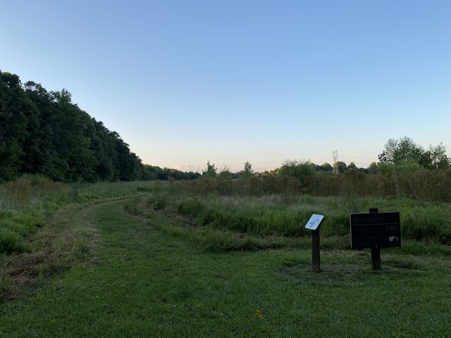
[[[351,213],[352,249],[401,246],[400,213]]]

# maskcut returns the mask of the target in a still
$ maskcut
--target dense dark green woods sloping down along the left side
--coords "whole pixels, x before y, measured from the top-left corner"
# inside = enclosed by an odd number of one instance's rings
[[[0,180],[23,173],[59,181],[137,180],[141,160],[117,132],[73,104],[70,92],[48,92],[0,71]]]

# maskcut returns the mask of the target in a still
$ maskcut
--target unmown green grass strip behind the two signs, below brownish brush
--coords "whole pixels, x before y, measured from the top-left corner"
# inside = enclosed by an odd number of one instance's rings
[[[407,197],[383,199],[356,193],[342,196],[293,193],[287,201],[285,193],[230,196],[167,189],[154,194],[148,204],[154,210],[166,209],[184,215],[199,228],[259,237],[304,237],[309,234],[304,225],[312,213],[326,215],[321,230],[323,236],[348,237],[350,213],[379,208],[380,211],[400,211],[404,239],[451,244],[450,204]]]

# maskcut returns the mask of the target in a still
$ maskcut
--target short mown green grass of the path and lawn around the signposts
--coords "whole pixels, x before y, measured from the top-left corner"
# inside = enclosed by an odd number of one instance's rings
[[[77,265],[0,305],[0,337],[450,337],[451,269],[439,258],[325,251],[205,253],[125,201],[89,206],[99,265]],[[259,315],[257,315],[259,311]]]

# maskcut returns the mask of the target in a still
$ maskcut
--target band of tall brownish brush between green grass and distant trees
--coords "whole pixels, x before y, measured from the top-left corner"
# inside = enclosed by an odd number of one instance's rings
[[[364,175],[349,170],[340,175],[315,175],[297,180],[295,177],[268,175],[250,180],[202,178],[190,182],[175,182],[179,189],[195,194],[221,195],[283,194],[287,202],[293,195],[313,196],[369,196],[381,198],[408,197],[425,201],[451,201],[451,169],[419,170],[400,173],[396,170],[384,175]]]

